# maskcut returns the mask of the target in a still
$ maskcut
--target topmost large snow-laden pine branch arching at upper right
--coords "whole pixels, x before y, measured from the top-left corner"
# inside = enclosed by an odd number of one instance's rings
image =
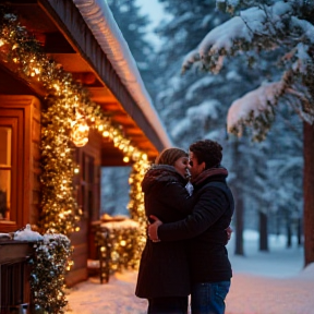
[[[297,8],[290,1],[278,1],[271,7],[253,7],[241,11],[239,16],[212,29],[198,47],[185,56],[182,71],[201,60],[206,70],[219,72],[221,58],[227,56],[249,50],[273,50],[281,46],[293,50],[299,43],[313,45],[314,26],[298,19],[295,11]],[[217,62],[218,60],[220,62]]]

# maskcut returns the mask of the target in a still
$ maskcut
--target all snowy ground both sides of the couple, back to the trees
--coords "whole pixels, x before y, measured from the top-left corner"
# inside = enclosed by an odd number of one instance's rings
[[[226,314],[314,314],[314,264],[303,269],[303,249],[286,249],[285,237],[269,237],[269,252],[257,250],[256,232],[245,231],[245,257],[234,256]],[[116,274],[109,283],[90,278],[69,290],[67,314],[145,314],[147,302],[134,295],[136,271]]]

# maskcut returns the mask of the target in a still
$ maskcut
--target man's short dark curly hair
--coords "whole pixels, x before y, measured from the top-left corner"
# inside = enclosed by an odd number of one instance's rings
[[[220,166],[222,146],[219,143],[212,140],[202,140],[191,144],[189,149],[194,154],[198,164],[205,161],[205,169]]]

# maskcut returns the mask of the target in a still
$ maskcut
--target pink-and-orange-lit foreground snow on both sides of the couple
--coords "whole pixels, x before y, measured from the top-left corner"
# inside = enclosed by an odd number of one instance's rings
[[[67,313],[144,314],[146,301],[134,295],[135,280],[136,271],[125,271],[107,285],[96,278],[80,283],[69,294]],[[226,314],[314,314],[314,265],[289,279],[235,274]]]

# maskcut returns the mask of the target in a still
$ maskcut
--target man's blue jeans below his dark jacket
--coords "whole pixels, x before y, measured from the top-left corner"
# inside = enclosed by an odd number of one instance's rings
[[[230,280],[194,283],[191,294],[192,314],[224,314],[229,288]]]

